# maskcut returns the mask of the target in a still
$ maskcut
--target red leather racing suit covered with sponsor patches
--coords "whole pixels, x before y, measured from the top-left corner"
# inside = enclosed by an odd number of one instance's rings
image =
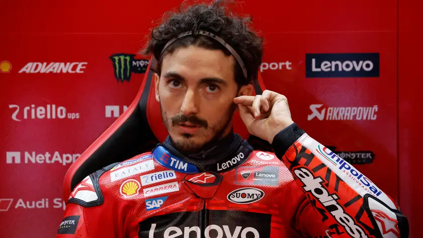
[[[57,237],[408,236],[394,202],[296,124],[274,137],[275,153],[230,140],[185,156],[168,138],[90,174]]]

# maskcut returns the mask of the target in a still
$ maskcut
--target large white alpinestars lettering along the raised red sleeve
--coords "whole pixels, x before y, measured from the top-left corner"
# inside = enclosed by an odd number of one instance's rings
[[[294,174],[304,184],[304,191],[317,198],[320,204],[345,228],[345,231],[351,237],[368,237],[364,230],[355,223],[354,218],[345,213],[342,205],[336,201],[339,198],[335,194],[329,194],[329,191],[322,186],[323,180],[321,177],[315,177],[307,168],[296,168]]]

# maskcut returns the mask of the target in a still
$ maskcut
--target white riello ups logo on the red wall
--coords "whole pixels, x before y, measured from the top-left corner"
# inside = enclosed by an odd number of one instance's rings
[[[18,118],[19,113],[19,106],[16,104],[10,104],[9,108],[16,108],[12,114],[12,119],[17,122],[21,122],[22,120]],[[68,118],[71,120],[80,118],[79,113],[75,112],[68,112],[66,113],[66,108],[63,106],[56,107],[55,104],[47,104],[46,106],[37,106],[35,107],[34,104],[31,106],[24,107],[24,115],[23,119],[64,119]]]

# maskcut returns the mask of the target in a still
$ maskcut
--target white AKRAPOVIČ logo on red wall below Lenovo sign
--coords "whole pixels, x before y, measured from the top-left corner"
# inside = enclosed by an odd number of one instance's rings
[[[327,110],[326,110],[327,109]],[[311,114],[307,116],[307,120],[311,121],[317,118],[320,121],[351,121],[351,120],[370,120],[374,121],[377,118],[376,112],[378,105],[373,107],[324,107],[323,104],[311,104]],[[320,111],[319,111],[320,110]]]

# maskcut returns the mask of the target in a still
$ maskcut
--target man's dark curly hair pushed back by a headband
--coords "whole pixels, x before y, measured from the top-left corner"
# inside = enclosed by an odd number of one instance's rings
[[[163,57],[172,54],[177,48],[195,45],[206,49],[220,49],[226,55],[231,55],[218,41],[202,35],[185,36],[171,43],[163,52],[166,43],[178,34],[186,31],[204,30],[224,39],[241,56],[247,78],[243,76],[240,65],[235,64],[235,81],[239,86],[257,80],[258,69],[263,55],[262,38],[248,25],[252,17],[239,17],[230,10],[230,3],[224,0],[215,0],[213,3],[195,4],[187,6],[187,2],[180,5],[179,11],[168,12],[163,15],[162,23],[153,28],[149,41],[143,53],[154,55],[157,60],[153,69],[159,75]]]

